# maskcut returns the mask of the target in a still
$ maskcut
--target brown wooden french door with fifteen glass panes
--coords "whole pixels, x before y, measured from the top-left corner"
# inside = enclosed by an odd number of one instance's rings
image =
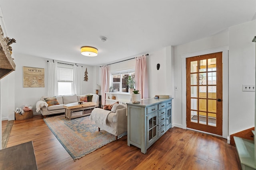
[[[222,135],[222,52],[186,59],[186,123]]]

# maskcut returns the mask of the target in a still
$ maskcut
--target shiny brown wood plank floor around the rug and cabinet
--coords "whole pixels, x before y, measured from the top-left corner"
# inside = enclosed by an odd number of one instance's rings
[[[33,141],[38,170],[240,170],[226,139],[174,127],[146,154],[127,146],[127,136],[74,161],[41,115],[14,121],[7,147]]]

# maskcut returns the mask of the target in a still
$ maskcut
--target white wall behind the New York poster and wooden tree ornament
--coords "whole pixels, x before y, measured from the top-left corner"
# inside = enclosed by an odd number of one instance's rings
[[[47,79],[48,79],[48,62],[41,57],[35,57],[24,54],[15,54],[16,70],[8,76],[1,79],[1,113],[2,120],[14,119],[14,109],[22,107],[25,104],[33,106],[33,112],[36,113],[36,102],[47,94]],[[55,61],[61,62],[62,61]],[[74,64],[74,63],[68,63]],[[81,64],[78,64],[81,66]],[[44,68],[44,88],[23,88],[23,66]],[[95,93],[95,71],[93,66],[82,65],[82,94]],[[87,68],[88,81],[84,80],[84,72]],[[13,102],[13,104],[12,104]]]

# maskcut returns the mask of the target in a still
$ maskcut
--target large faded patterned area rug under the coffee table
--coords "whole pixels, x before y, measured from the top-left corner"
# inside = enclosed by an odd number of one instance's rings
[[[95,123],[89,120],[89,116],[68,120],[65,115],[59,115],[46,117],[44,121],[74,160],[116,139],[104,130],[99,132]],[[119,135],[118,139],[124,135],[126,133]]]

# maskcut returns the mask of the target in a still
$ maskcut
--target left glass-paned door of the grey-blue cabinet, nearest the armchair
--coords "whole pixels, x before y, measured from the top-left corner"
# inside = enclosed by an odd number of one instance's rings
[[[157,139],[158,133],[158,113],[152,113],[151,115],[147,116],[147,148],[150,147]]]

